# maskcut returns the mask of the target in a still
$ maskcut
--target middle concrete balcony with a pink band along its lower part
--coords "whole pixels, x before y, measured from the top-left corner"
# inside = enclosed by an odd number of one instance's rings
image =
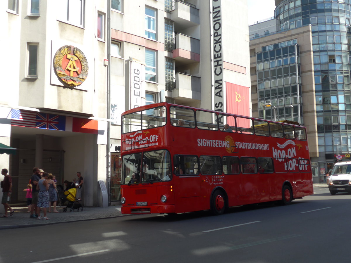
[[[200,62],[200,40],[178,33],[172,53],[177,67]]]

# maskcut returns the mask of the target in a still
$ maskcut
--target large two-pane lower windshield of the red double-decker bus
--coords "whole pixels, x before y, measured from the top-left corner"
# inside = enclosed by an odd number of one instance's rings
[[[153,183],[172,178],[171,155],[167,150],[146,151],[123,156],[124,183]]]

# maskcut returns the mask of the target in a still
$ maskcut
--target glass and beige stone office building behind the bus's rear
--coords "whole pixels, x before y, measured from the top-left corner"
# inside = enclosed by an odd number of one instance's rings
[[[275,0],[275,4],[275,25],[271,20],[250,26],[250,53],[257,63],[251,67],[252,87],[257,85],[253,115],[297,121],[315,134],[314,142],[309,138],[310,149],[316,149],[311,162],[314,176],[324,182],[338,154],[342,161],[351,160],[351,0]],[[306,34],[310,28],[308,38],[297,32],[302,28]],[[289,32],[294,33],[288,36]],[[310,48],[302,48],[306,39]],[[312,61],[307,65],[303,58],[308,52]],[[306,67],[311,67],[313,81],[303,77]],[[304,88],[308,85],[313,86]],[[306,99],[311,90],[313,97]],[[256,94],[252,94],[254,104]],[[263,106],[267,104],[271,107]],[[311,120],[316,129],[309,129]]]

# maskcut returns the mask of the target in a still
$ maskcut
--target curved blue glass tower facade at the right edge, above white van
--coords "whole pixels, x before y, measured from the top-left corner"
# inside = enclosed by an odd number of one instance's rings
[[[284,0],[280,31],[311,24],[319,152],[351,152],[351,0]]]

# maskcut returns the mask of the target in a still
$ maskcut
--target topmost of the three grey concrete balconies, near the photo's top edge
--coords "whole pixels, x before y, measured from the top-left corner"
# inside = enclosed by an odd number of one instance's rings
[[[174,10],[171,11],[171,19],[174,21],[177,31],[199,25],[199,9],[184,0],[176,0],[174,1]]]

